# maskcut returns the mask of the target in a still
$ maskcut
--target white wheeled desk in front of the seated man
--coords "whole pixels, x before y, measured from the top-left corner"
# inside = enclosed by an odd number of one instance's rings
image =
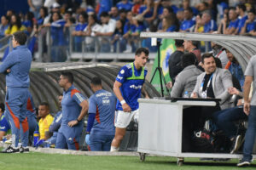
[[[215,101],[171,102],[165,99],[138,99],[138,147],[142,161],[145,154],[177,157],[178,165],[184,157],[241,158],[240,154],[182,152],[183,108],[192,105],[214,106]]]

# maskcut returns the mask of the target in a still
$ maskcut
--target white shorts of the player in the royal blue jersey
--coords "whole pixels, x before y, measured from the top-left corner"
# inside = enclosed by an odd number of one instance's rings
[[[115,111],[114,126],[119,128],[126,128],[130,124],[131,120],[138,122],[138,113],[138,109],[131,112]]]

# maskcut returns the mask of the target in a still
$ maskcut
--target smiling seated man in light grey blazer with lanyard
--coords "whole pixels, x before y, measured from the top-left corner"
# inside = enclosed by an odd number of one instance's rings
[[[214,98],[221,99],[219,105],[214,107],[203,107],[202,117],[211,119],[215,111],[230,108],[230,94],[228,89],[233,87],[230,71],[216,67],[212,54],[203,54],[201,59],[205,72],[197,77],[193,98]]]

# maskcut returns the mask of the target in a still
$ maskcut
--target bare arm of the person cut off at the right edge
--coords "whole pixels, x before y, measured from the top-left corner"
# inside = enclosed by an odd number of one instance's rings
[[[244,84],[243,84],[243,99],[244,99],[243,111],[247,115],[250,114],[249,94],[250,94],[250,89],[251,89],[252,82],[253,82],[253,77],[251,77],[251,76],[246,76],[245,77],[245,81],[244,81]]]

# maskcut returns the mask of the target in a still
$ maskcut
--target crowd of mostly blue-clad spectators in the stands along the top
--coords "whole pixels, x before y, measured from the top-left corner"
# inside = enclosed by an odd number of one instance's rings
[[[251,0],[241,0],[233,6],[227,0],[183,0],[178,4],[168,0],[70,2],[28,0],[30,11],[26,14],[10,9],[2,16],[0,36],[26,31],[30,37],[37,37],[38,32],[44,35],[44,27],[49,27],[50,61],[65,61],[69,34],[73,35],[72,48],[77,52],[82,46],[87,51],[96,50],[96,43],[100,52],[134,52],[141,46],[156,51],[150,39],[139,40],[142,31],[256,35],[255,2]],[[46,43],[49,40],[44,38]],[[32,52],[37,47],[33,40]]]

